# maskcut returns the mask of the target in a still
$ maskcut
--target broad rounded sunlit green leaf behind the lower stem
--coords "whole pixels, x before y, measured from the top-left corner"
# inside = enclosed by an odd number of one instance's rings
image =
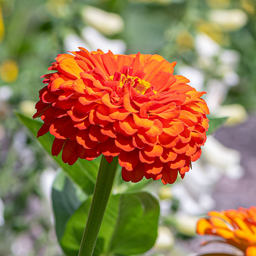
[[[61,246],[68,256],[77,256],[92,198],[68,220]],[[112,195],[95,245],[94,256],[131,255],[148,251],[157,237],[159,204],[147,192]]]

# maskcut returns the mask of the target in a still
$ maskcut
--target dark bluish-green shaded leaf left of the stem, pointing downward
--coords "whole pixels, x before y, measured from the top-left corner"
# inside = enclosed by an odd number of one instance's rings
[[[59,242],[65,232],[66,222],[80,204],[73,183],[65,176],[64,172],[59,172],[52,186],[52,205]]]

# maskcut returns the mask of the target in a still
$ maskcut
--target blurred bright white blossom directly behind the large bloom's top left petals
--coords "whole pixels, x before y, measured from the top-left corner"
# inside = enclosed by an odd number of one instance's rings
[[[96,51],[97,49],[103,52],[111,50],[114,54],[123,54],[126,51],[126,44],[121,39],[108,39],[99,31],[92,27],[85,27],[81,36],[69,34],[64,39],[64,46],[67,51],[77,51],[77,47],[84,47],[88,51]]]

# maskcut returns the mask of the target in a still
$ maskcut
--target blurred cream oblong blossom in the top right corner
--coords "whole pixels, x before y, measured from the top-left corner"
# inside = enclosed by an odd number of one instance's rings
[[[211,10],[209,20],[229,31],[243,28],[247,23],[247,15],[241,9]]]

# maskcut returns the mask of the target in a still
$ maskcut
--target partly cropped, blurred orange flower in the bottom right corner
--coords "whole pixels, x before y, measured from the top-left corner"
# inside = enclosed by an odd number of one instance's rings
[[[208,212],[208,218],[197,222],[199,235],[219,236],[221,240],[206,241],[221,242],[235,246],[244,252],[245,256],[256,255],[256,207],[249,209],[239,207],[238,210]]]

